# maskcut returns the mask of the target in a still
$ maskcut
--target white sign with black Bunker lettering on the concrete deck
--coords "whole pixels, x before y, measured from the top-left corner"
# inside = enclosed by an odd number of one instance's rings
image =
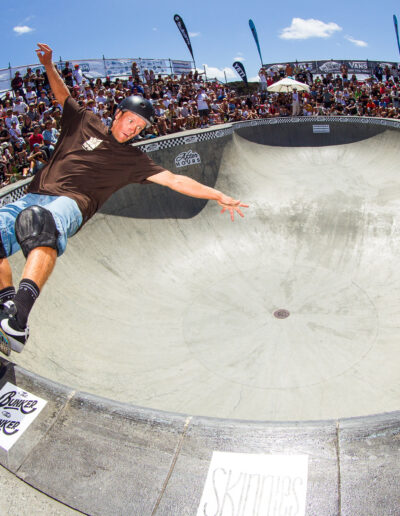
[[[7,382],[0,390],[0,447],[9,450],[47,401]]]

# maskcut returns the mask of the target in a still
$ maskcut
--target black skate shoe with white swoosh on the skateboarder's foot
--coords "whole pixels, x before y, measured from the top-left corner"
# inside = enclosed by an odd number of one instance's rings
[[[0,351],[9,356],[12,351],[21,353],[29,337],[29,328],[20,328],[15,317],[16,307],[13,301],[7,301],[0,307]]]

